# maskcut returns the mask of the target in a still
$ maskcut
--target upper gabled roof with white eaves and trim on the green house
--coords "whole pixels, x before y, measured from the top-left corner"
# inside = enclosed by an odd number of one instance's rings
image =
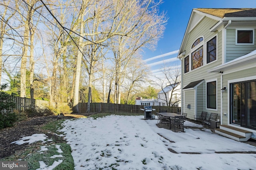
[[[186,41],[190,31],[202,20],[208,17],[216,20],[216,24],[209,31],[216,31],[221,26],[228,25],[231,21],[256,21],[256,8],[194,8],[190,15],[188,25],[182,39],[180,50],[177,58],[182,58],[186,55],[184,51]]]

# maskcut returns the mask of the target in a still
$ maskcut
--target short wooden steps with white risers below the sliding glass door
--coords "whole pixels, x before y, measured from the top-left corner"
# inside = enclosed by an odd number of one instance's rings
[[[251,138],[252,132],[239,129],[228,125],[220,125],[220,129],[214,129],[215,133],[234,139],[239,142],[248,141]]]

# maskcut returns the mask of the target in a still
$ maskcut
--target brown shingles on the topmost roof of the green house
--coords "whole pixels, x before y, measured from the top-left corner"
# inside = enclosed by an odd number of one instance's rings
[[[217,16],[220,18],[224,17],[256,17],[255,8],[196,8],[200,12]]]

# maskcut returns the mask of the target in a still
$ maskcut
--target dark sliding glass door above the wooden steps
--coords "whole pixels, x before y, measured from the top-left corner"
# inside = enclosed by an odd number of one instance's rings
[[[231,123],[256,129],[256,81],[231,84]]]

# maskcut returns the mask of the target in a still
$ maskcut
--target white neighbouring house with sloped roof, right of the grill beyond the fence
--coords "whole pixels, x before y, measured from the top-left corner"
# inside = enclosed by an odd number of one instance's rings
[[[158,103],[159,106],[168,106],[170,98],[172,96],[172,100],[170,106],[181,107],[181,96],[180,96],[180,82],[176,84],[171,84],[163,88],[160,92],[158,92]],[[174,90],[172,90],[174,89]],[[173,92],[172,92],[173,91]],[[166,102],[167,101],[167,102]]]

